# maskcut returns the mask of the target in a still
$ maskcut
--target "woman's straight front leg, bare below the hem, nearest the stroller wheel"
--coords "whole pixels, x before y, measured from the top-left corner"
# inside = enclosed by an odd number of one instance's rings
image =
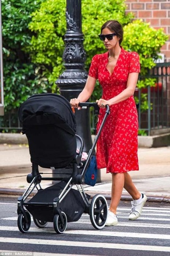
[[[110,211],[116,215],[117,206],[120,203],[124,186],[124,173],[112,173]]]

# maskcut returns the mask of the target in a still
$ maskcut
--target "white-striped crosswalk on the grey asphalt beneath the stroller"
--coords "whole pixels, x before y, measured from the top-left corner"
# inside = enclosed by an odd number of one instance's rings
[[[170,253],[170,207],[144,207],[143,213],[140,216],[140,221],[128,221],[129,208],[118,208],[118,224],[114,227],[104,228],[103,230],[93,230],[92,224],[88,214],[83,214],[81,219],[77,222],[70,222],[67,225],[67,229],[64,232],[66,236],[57,235],[54,231],[53,224],[49,227],[37,228],[32,223],[28,233],[34,234],[32,238],[26,238],[22,236],[15,225],[10,226],[9,223],[14,222],[18,219],[16,212],[12,217],[1,218],[1,223],[4,225],[0,226],[0,248],[1,243],[8,244],[37,244],[39,246],[59,246],[59,247],[71,247],[71,248],[103,248],[103,249],[118,249],[118,250],[133,250],[142,252],[160,252]],[[7,225],[5,225],[7,224]],[[70,226],[69,226],[70,225]],[[76,226],[77,225],[77,226]],[[80,225],[83,228],[80,230]],[[70,228],[71,227],[71,228]],[[73,228],[72,228],[73,227]],[[132,229],[133,228],[133,229]],[[127,232],[127,230],[129,232]],[[3,232],[9,232],[10,236],[3,237]],[[47,239],[43,237],[39,238],[40,234],[47,234]],[[20,236],[18,235],[20,234]],[[35,234],[36,238],[35,238]],[[56,236],[54,237],[55,234]],[[82,239],[72,239],[78,236]],[[84,239],[86,237],[86,239]],[[84,241],[87,240],[88,241]],[[93,237],[93,242],[92,242]],[[98,237],[95,241],[94,237]],[[70,238],[70,239],[69,239]],[[116,239],[118,238],[118,239]],[[123,239],[124,240],[123,240]],[[60,240],[61,239],[61,240]],[[111,240],[112,239],[112,240]],[[133,243],[133,239],[135,239]],[[146,244],[147,239],[147,244]],[[99,242],[100,241],[100,242]],[[107,242],[106,242],[107,241]],[[109,242],[108,242],[109,241]],[[121,243],[120,243],[121,241]],[[123,241],[126,241],[124,243]],[[138,241],[138,242],[137,242]],[[158,242],[157,242],[158,241]],[[7,249],[6,249],[7,250]],[[2,250],[0,249],[0,252]],[[4,251],[3,251],[4,252]],[[9,252],[9,251],[8,251]],[[1,255],[1,254],[0,254]],[[9,255],[9,254],[8,254]],[[58,253],[41,253],[36,252],[33,256],[53,256],[61,255]],[[62,254],[62,256],[69,256],[70,254]],[[83,254],[72,254],[75,256]],[[85,254],[84,254],[85,255]],[[86,254],[92,255],[92,254]],[[93,256],[98,255],[94,254]],[[104,254],[106,255],[106,254]],[[148,254],[150,255],[150,254]],[[163,254],[162,254],[163,255]],[[167,254],[166,254],[167,255]]]

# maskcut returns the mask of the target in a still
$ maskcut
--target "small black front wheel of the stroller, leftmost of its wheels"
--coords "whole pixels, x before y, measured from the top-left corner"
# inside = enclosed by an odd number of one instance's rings
[[[26,233],[31,226],[31,215],[28,211],[25,211],[28,221],[26,221],[24,214],[18,215],[18,228],[21,233]]]

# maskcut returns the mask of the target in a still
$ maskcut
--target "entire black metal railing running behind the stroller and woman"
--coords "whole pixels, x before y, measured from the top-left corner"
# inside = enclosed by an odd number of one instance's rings
[[[150,78],[156,79],[156,86],[135,91],[139,99],[138,118],[139,131],[145,135],[156,135],[170,132],[170,63],[158,63],[149,72]],[[141,94],[147,93],[148,110],[141,111]],[[92,113],[92,132],[95,130],[95,121]],[[0,132],[20,132],[18,110],[5,113],[0,117]],[[141,135],[143,133],[140,133]]]

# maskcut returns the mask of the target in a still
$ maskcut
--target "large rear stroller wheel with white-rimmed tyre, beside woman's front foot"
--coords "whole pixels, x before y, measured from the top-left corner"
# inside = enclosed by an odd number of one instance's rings
[[[93,197],[90,202],[90,221],[92,225],[97,230],[101,230],[105,226],[105,222],[107,220],[107,201],[103,195],[97,194]]]

